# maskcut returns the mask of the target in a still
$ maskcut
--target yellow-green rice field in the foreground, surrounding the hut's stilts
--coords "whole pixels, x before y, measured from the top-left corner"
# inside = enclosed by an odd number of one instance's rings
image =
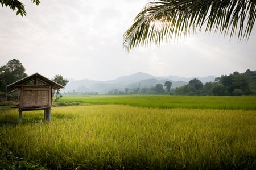
[[[51,123],[35,123],[43,111],[28,111],[18,125],[18,110],[2,109],[0,138],[15,156],[48,169],[256,168],[254,106],[191,109],[112,101],[52,107]]]

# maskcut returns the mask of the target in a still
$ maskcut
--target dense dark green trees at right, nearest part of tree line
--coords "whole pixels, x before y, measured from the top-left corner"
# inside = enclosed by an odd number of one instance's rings
[[[254,94],[256,90],[256,71],[249,69],[245,73],[234,72],[229,76],[222,75],[216,82],[206,82],[204,85],[196,78],[172,90],[175,95],[214,95],[214,96],[242,96]]]

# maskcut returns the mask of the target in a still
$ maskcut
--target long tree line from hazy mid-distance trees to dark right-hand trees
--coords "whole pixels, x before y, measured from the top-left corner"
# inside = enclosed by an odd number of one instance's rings
[[[170,95],[200,95],[200,96],[242,96],[256,95],[256,71],[247,69],[245,73],[234,72],[222,75],[214,82],[203,84],[197,78],[187,85],[171,89],[172,82],[166,81],[164,85],[156,84],[152,87],[125,88],[125,90],[110,90],[108,95],[126,94],[170,94]]]

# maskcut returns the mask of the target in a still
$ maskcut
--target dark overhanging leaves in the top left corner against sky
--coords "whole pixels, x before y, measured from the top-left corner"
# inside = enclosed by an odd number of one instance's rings
[[[39,0],[31,0],[33,3],[36,3],[36,5],[40,4]],[[16,15],[21,15],[21,16],[27,16],[26,10],[25,10],[25,5],[21,3],[18,0],[0,0],[0,3],[3,7],[5,5],[6,7],[10,7],[13,11],[17,9]]]

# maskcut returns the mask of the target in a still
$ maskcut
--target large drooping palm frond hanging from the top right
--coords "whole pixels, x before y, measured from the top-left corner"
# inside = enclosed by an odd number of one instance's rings
[[[255,0],[158,0],[149,2],[125,32],[123,46],[159,45],[197,31],[247,40],[256,18]]]

